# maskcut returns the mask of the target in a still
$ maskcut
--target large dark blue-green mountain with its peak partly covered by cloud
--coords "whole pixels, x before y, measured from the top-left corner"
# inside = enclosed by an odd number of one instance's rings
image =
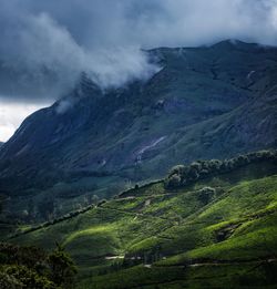
[[[7,216],[58,216],[178,163],[276,147],[276,48],[224,41],[146,53],[161,68],[148,81],[103,91],[82,75],[22,123],[0,152]]]

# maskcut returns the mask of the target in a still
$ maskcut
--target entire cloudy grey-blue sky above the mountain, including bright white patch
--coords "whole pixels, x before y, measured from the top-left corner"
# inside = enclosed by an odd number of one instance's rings
[[[142,49],[277,44],[277,0],[0,0],[0,141],[85,71],[101,87],[157,71]]]

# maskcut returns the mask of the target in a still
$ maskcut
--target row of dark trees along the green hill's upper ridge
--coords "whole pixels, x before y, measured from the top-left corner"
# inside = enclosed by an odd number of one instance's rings
[[[225,161],[197,161],[188,166],[177,165],[171,169],[167,178],[165,179],[165,187],[178,188],[185,185],[189,185],[201,178],[228,173],[248,164],[263,161],[276,162],[277,151],[260,151],[246,155],[239,155],[237,157]]]

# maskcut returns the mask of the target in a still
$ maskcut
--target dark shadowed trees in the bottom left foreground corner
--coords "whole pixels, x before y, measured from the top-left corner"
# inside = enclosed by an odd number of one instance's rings
[[[76,267],[64,248],[51,254],[37,247],[0,244],[1,289],[74,288]]]

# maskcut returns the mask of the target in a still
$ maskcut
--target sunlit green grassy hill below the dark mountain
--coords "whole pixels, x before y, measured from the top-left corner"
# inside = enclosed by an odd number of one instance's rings
[[[195,163],[10,241],[64,245],[78,288],[276,288],[276,152],[205,166],[186,184],[168,179],[188,179]]]

